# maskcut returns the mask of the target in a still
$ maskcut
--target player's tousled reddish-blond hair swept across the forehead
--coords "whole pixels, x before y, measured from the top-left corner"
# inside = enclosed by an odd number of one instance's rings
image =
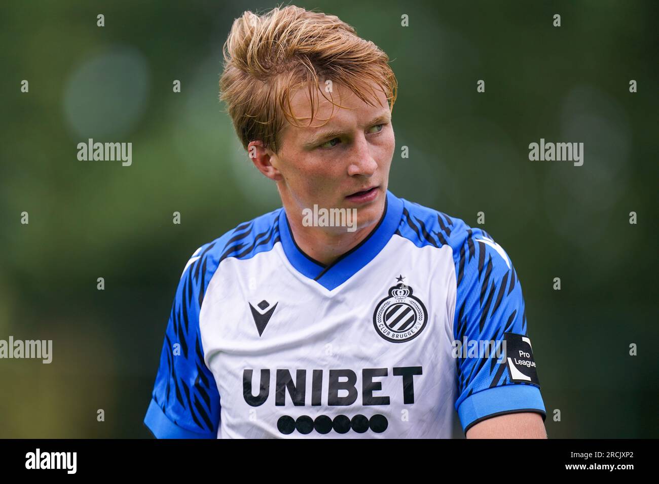
[[[260,16],[244,12],[231,26],[223,57],[219,99],[245,149],[254,140],[275,153],[281,148],[282,115],[293,124],[291,91],[296,88],[308,86],[313,119],[312,88],[320,89],[319,77],[341,83],[370,106],[367,91],[378,99],[372,83],[387,96],[390,110],[397,94],[384,51],[337,16],[294,5]]]

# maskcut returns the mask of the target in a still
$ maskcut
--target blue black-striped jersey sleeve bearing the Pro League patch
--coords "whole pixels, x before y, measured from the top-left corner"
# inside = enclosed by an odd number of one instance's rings
[[[522,288],[508,255],[482,229],[461,230],[456,277],[454,356],[463,430],[489,417],[536,412],[546,418]],[[475,344],[474,344],[475,342]]]

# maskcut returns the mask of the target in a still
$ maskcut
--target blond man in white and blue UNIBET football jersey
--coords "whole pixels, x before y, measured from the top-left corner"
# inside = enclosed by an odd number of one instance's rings
[[[144,419],[156,437],[450,437],[456,410],[468,438],[546,437],[509,257],[387,190],[387,61],[335,16],[234,22],[221,97],[283,207],[186,264]]]

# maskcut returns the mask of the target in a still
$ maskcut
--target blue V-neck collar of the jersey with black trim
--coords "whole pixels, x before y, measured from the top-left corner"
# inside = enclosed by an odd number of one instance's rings
[[[357,246],[341,255],[330,265],[324,265],[304,254],[297,246],[286,217],[286,211],[281,209],[279,213],[281,246],[287,259],[299,273],[318,282],[324,288],[332,290],[350,279],[364,265],[380,254],[380,251],[396,232],[402,215],[403,201],[387,190],[384,214],[376,228]]]

